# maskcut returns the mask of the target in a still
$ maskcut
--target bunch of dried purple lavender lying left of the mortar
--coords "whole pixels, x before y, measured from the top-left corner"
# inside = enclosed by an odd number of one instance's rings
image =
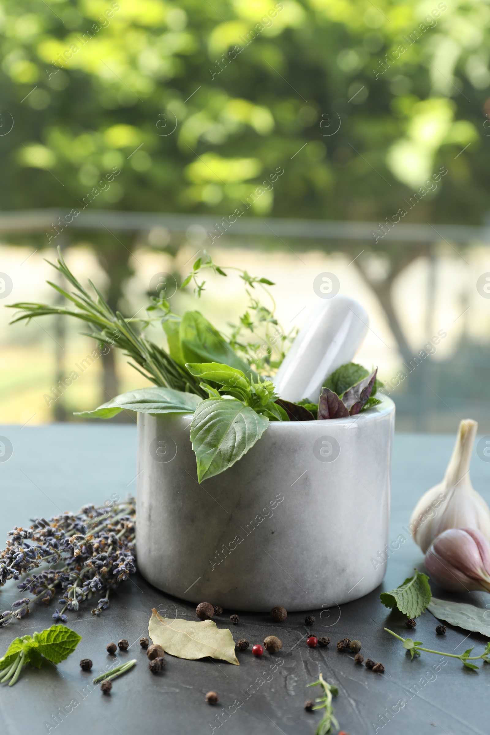
[[[135,517],[134,498],[128,498],[109,506],[87,505],[77,514],[65,512],[49,520],[34,518],[30,528],[15,526],[0,552],[0,587],[29,574],[17,587],[35,596],[15,600],[12,610],[0,615],[0,625],[20,620],[38,600],[51,602],[57,588],[62,597],[53,620],[64,623],[65,610],[78,610],[79,603],[93,595],[101,597],[92,613],[101,614],[109,607],[110,591],[136,571]],[[45,564],[48,569],[32,574]]]

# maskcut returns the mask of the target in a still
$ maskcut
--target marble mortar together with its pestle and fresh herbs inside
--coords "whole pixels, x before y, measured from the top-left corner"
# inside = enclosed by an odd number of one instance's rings
[[[286,354],[292,335],[273,300],[269,309],[253,296],[260,288],[272,299],[273,284],[245,270],[249,308],[226,336],[198,311],[172,312],[161,296],[145,318],[126,319],[90,284],[93,298],[61,255],[54,267],[73,291],[51,286],[70,305],[13,304],[21,309],[13,321],[81,319],[153,383],[79,414],[138,414],[137,558],[148,581],[257,611],[278,601],[290,610],[341,603],[379,584],[382,570],[369,559],[386,543],[394,406],[378,394],[376,370],[350,362],[367,329],[359,304],[320,299]],[[193,280],[200,295],[206,268],[226,276],[206,256],[182,287]],[[145,336],[155,323],[167,350]],[[347,545],[353,504],[367,530]]]

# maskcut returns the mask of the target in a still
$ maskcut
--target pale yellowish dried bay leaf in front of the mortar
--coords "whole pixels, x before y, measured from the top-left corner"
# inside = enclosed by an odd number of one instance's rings
[[[220,630],[212,620],[172,620],[160,617],[155,609],[148,625],[148,634],[154,643],[158,643],[179,659],[212,659],[228,661],[230,664],[239,662],[235,656],[235,642],[231,631],[226,628]]]

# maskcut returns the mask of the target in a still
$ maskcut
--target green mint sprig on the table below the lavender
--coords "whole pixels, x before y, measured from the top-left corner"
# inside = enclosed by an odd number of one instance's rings
[[[52,664],[59,664],[73,653],[81,640],[82,636],[65,625],[51,625],[51,628],[35,633],[33,637],[15,638],[0,659],[0,670],[6,670],[1,675],[0,683],[10,680],[9,686],[13,686],[26,664],[39,669],[43,657]]]

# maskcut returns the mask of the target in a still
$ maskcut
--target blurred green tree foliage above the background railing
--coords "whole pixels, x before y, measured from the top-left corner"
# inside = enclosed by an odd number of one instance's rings
[[[0,20],[3,209],[93,191],[229,215],[280,166],[251,213],[383,221],[441,165],[410,218],[488,209],[485,1],[5,0]]]

